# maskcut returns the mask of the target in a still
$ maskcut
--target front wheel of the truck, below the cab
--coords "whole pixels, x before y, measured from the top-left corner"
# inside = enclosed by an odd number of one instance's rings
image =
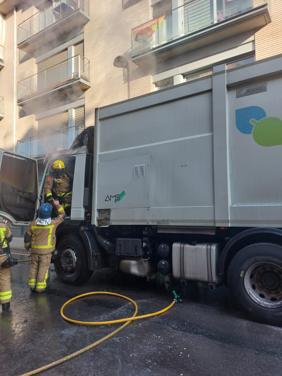
[[[58,256],[54,261],[58,278],[67,285],[82,285],[92,276],[88,270],[86,251],[82,243],[72,235],[62,237],[57,245]]]

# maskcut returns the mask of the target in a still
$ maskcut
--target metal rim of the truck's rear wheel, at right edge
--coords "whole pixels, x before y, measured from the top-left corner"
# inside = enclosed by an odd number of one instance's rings
[[[282,306],[282,268],[270,262],[258,262],[246,271],[244,286],[249,297],[262,307]]]

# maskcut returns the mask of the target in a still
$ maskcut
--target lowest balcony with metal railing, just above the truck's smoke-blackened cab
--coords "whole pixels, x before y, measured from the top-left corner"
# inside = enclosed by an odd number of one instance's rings
[[[66,152],[84,129],[84,125],[77,125],[57,132],[23,138],[17,141],[17,153],[34,158],[49,153]]]

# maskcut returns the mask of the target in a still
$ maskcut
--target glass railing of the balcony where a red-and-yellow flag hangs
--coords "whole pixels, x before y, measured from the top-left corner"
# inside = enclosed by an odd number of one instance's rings
[[[267,4],[267,0],[192,0],[132,29],[132,56]]]

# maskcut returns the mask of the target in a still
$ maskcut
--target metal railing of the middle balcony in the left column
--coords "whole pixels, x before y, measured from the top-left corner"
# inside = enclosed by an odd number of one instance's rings
[[[76,55],[19,81],[18,101],[80,78],[89,82],[89,60]]]

